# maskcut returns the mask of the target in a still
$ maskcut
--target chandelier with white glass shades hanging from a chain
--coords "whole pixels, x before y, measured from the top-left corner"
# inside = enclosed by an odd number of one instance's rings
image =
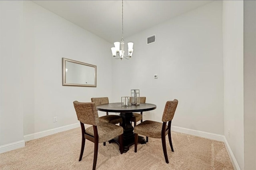
[[[124,3],[123,3],[123,0],[122,0],[122,40],[121,42],[114,42],[114,45],[115,47],[112,47],[111,48],[111,51],[112,51],[112,55],[115,59],[123,59],[123,58],[126,58],[126,59],[130,59],[130,57],[132,57],[132,52],[133,52],[133,43],[132,42],[129,42],[127,43],[128,45],[128,55],[124,55],[124,38],[123,38],[123,35],[124,35]],[[120,49],[120,44],[121,44],[121,49]]]

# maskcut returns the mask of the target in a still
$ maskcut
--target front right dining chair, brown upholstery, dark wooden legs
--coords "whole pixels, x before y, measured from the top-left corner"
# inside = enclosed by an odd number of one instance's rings
[[[170,143],[172,152],[174,152],[172,147],[171,123],[172,123],[172,119],[174,117],[174,113],[177,108],[177,105],[178,105],[178,100],[176,99],[174,99],[173,101],[166,102],[164,113],[162,116],[163,123],[155,122],[155,121],[144,121],[134,127],[134,134],[135,134],[134,152],[137,152],[138,134],[142,134],[152,138],[162,138],[162,147],[164,151],[165,162],[167,164],[169,163],[167,151],[166,151],[165,136],[168,134],[169,143]],[[168,126],[167,126],[167,122],[168,122]]]

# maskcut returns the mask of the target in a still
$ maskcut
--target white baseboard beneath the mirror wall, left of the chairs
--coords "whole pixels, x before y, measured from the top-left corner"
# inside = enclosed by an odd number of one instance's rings
[[[48,136],[48,135],[55,134],[58,132],[63,132],[63,131],[70,130],[72,128],[77,128],[77,127],[80,127],[80,123],[74,123],[71,125],[63,126],[63,127],[52,128],[52,129],[44,130],[41,132],[27,134],[27,135],[24,135],[24,140],[29,141],[29,140],[33,140],[33,139],[37,139],[37,138],[42,138],[44,136]]]

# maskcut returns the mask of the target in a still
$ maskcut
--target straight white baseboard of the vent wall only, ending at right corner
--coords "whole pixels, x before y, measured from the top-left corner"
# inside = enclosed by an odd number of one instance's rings
[[[181,132],[181,133],[185,133],[185,134],[199,136],[202,138],[208,138],[208,139],[224,142],[224,135],[220,135],[220,134],[214,134],[214,133],[204,132],[204,131],[200,131],[200,130],[193,130],[193,129],[189,129],[189,128],[182,128],[182,127],[176,127],[176,126],[172,126],[171,130],[174,132]]]

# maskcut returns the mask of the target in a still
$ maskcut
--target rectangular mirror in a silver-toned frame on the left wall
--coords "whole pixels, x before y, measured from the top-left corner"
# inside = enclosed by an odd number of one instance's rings
[[[96,87],[96,65],[62,58],[62,85]]]

